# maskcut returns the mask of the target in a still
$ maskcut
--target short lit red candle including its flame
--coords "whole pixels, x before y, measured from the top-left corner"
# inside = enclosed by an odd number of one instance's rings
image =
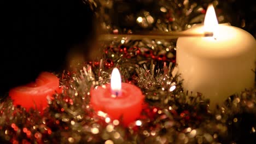
[[[141,89],[130,83],[121,83],[117,68],[112,71],[111,83],[91,89],[91,106],[107,113],[110,119],[119,119],[125,126],[139,117],[144,96]]]

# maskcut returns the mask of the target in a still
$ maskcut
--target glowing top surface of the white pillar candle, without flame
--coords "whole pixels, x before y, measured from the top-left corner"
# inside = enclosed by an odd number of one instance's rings
[[[190,28],[187,31],[201,32],[203,26]],[[219,34],[220,37],[216,40],[213,37],[209,37],[210,39],[208,37],[180,37],[177,40],[177,50],[182,47],[182,49],[200,57],[226,58],[237,57],[241,53],[251,53],[252,49],[256,47],[254,37],[241,28],[219,25]],[[237,46],[241,43],[244,46]]]

